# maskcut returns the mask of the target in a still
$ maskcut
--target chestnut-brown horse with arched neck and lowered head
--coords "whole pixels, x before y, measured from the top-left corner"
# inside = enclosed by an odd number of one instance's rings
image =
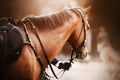
[[[4,80],[45,80],[41,79],[44,69],[65,43],[69,42],[79,53],[85,43],[86,30],[90,28],[80,8],[25,17],[16,25],[24,43],[19,58],[5,66]]]

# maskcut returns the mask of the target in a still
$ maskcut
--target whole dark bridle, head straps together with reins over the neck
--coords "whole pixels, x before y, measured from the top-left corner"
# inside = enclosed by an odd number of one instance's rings
[[[79,12],[79,13],[81,14],[81,12]],[[75,46],[73,46],[73,44],[71,44],[72,47],[73,47],[73,49],[72,49],[72,54],[71,54],[71,58],[70,58],[69,62],[60,63],[60,64],[59,64],[59,67],[58,67],[59,69],[63,69],[64,71],[69,70],[69,68],[71,67],[71,64],[73,63],[73,60],[74,60],[75,58],[78,58],[78,57],[80,57],[80,56],[82,55],[82,51],[81,51],[80,49],[81,49],[81,48],[84,46],[84,44],[85,44],[85,40],[86,40],[86,29],[85,29],[84,17],[83,17],[82,14],[81,14],[81,17],[82,17],[82,23],[83,23],[82,25],[83,25],[83,27],[82,27],[82,29],[81,29],[81,31],[80,31],[79,38],[78,38],[77,41],[79,41],[83,30],[84,30],[84,34],[85,34],[84,40],[83,40],[82,44],[79,45],[78,48],[76,48]],[[45,57],[48,65],[49,65],[49,67],[50,67],[50,69],[51,69],[54,77],[58,79],[58,76],[55,74],[55,72],[54,72],[54,70],[53,70],[53,67],[52,67],[52,65],[51,65],[51,62],[50,62],[50,60],[49,60],[49,58],[48,58],[48,56],[47,56],[47,53],[46,53],[45,48],[44,48],[44,46],[43,46],[43,44],[42,44],[42,41],[41,41],[40,37],[38,36],[38,32],[36,31],[36,27],[34,26],[34,24],[32,23],[32,21],[31,21],[29,18],[25,18],[25,19],[22,20],[22,22],[21,22],[22,25],[23,25],[23,28],[24,28],[24,32],[25,32],[26,37],[27,37],[27,42],[24,42],[24,45],[29,45],[29,46],[31,47],[31,49],[32,49],[33,52],[34,52],[34,55],[36,56],[37,61],[39,62],[39,65],[41,66],[41,69],[42,69],[41,77],[43,77],[43,79],[41,79],[41,80],[44,80],[44,78],[47,79],[46,76],[48,76],[48,75],[47,75],[47,73],[45,72],[45,67],[44,67],[44,65],[43,65],[43,63],[42,63],[42,61],[41,61],[41,58],[40,58],[37,50],[36,50],[35,47],[33,46],[33,43],[32,43],[31,38],[30,38],[30,34],[29,34],[28,29],[27,29],[27,26],[26,26],[26,22],[29,22],[29,23],[30,23],[31,28],[32,28],[32,30],[33,30],[33,33],[35,34],[35,36],[37,37],[37,39],[38,39],[38,41],[39,41],[39,44],[40,44],[40,46],[41,46],[43,55],[44,55],[44,57]],[[69,43],[71,43],[71,42],[69,42]],[[76,56],[75,56],[75,57],[73,57],[74,52],[76,52]],[[67,68],[66,68],[66,67],[67,67]],[[48,76],[48,77],[49,77],[49,76]]]

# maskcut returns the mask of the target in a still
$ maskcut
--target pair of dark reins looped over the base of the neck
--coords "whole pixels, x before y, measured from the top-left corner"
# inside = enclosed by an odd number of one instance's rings
[[[26,27],[26,24],[25,24],[26,21],[31,24],[32,29],[33,29],[33,32],[35,33],[35,35],[36,35],[36,37],[37,37],[37,39],[38,39],[38,41],[39,41],[39,44],[41,45],[41,48],[42,48],[44,57],[45,57],[48,65],[49,65],[49,67],[50,67],[53,75],[58,79],[57,75],[55,74],[55,72],[54,72],[54,70],[53,70],[53,67],[52,67],[52,65],[51,65],[51,62],[50,62],[50,60],[49,60],[49,58],[48,58],[48,56],[47,56],[47,53],[46,53],[45,48],[44,48],[44,46],[43,46],[43,44],[42,44],[42,41],[41,41],[40,37],[38,36],[38,33],[37,33],[37,31],[36,31],[36,27],[35,27],[34,24],[30,21],[29,18],[26,18],[25,21],[23,21],[23,26],[24,26],[24,31],[25,31],[25,33],[26,33],[28,42],[26,42],[25,44],[29,45],[29,46],[32,48],[32,50],[34,51],[34,54],[35,54],[35,56],[36,56],[36,58],[37,58],[37,60],[38,60],[38,62],[39,62],[39,64],[40,64],[40,66],[41,66],[41,68],[42,68],[42,73],[44,74],[43,77],[46,75],[46,73],[44,73],[45,68],[44,68],[43,63],[42,63],[42,61],[41,61],[41,59],[40,59],[40,56],[38,55],[36,49],[35,49],[35,48],[33,47],[33,45],[32,45],[32,41],[31,41],[31,39],[30,39],[28,30],[27,30],[27,27]]]

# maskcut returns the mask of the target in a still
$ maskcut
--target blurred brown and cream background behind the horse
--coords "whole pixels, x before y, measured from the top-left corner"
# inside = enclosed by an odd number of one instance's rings
[[[47,15],[68,7],[69,0],[1,0],[0,17]],[[76,60],[60,80],[120,80],[120,0],[70,0],[71,7],[80,7],[88,17],[88,56]],[[61,60],[69,59],[66,44]],[[61,54],[62,53],[62,54]],[[53,79],[54,80],[54,79]]]

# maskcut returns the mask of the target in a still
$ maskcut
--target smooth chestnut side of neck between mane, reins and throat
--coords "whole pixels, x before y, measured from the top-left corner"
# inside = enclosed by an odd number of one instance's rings
[[[42,28],[39,28],[40,26],[37,26],[39,37],[41,38],[45,51],[51,61],[67,42],[68,38],[75,30],[77,23],[78,18],[74,16],[73,19],[66,22],[63,26],[54,29],[42,30]]]

